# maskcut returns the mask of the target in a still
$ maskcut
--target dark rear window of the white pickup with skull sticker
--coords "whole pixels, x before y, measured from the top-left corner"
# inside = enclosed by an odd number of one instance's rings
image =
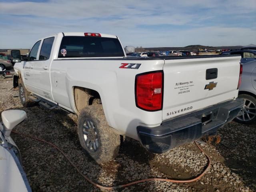
[[[64,36],[58,57],[124,57],[124,52],[117,38]]]

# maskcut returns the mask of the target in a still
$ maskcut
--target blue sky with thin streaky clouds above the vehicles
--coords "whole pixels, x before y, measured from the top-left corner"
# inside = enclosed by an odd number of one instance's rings
[[[0,48],[57,32],[114,34],[123,46],[256,44],[256,0],[0,0]]]

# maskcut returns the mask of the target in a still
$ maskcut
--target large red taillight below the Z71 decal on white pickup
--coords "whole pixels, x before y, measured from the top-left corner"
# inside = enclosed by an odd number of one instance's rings
[[[136,76],[135,100],[138,108],[148,111],[162,109],[163,77],[162,71],[138,74]]]

